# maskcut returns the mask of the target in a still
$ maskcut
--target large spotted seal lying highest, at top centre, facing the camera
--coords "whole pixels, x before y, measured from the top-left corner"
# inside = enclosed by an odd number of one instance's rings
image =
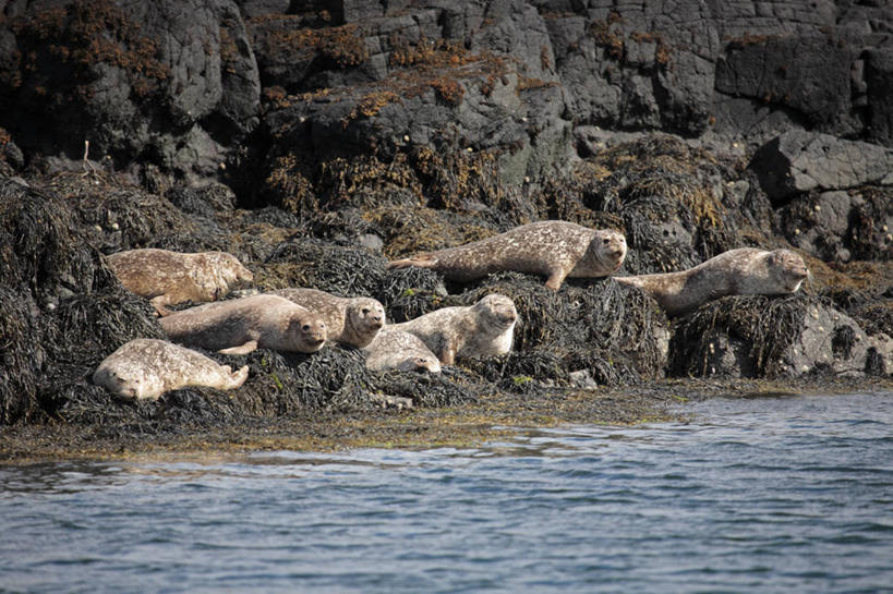
[[[616,272],[626,252],[626,239],[617,231],[546,220],[464,245],[397,259],[388,268],[431,268],[459,282],[500,270],[531,272],[545,275],[545,286],[557,291],[567,277],[606,277]]]

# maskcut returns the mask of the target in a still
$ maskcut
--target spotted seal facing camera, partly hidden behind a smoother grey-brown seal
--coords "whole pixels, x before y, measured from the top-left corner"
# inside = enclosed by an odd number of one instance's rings
[[[279,295],[323,316],[327,340],[362,349],[385,325],[385,307],[372,298],[340,298],[316,289],[279,289]]]

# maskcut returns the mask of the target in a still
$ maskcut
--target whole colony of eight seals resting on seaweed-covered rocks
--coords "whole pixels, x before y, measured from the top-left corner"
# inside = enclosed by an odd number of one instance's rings
[[[463,281],[500,270],[545,275],[557,290],[567,277],[603,277],[626,257],[624,237],[564,221],[524,225],[479,242],[449,247],[388,267],[421,266]],[[222,253],[177,254],[133,250],[109,256],[122,283],[152,300],[173,342],[226,354],[255,349],[315,353],[326,340],[362,350],[371,371],[441,373],[442,364],[500,355],[511,350],[518,312],[512,300],[494,293],[469,306],[435,310],[401,324],[387,325],[381,302],[341,298],[311,288],[289,288],[170,313],[166,305],[208,301],[251,271]],[[796,292],[809,272],[789,250],[731,250],[688,270],[615,277],[652,295],[671,316],[688,313],[723,295]],[[132,340],[102,361],[93,381],[132,399],[157,399],[185,386],[222,390],[240,387],[248,366],[232,372],[204,354],[164,340]]]

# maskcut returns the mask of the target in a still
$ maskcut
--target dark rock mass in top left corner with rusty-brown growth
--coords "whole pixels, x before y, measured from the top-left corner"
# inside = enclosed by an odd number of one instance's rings
[[[229,0],[15,4],[2,23],[2,123],[23,148],[216,174],[257,123],[260,80]],[[189,15],[188,17],[184,17]]]

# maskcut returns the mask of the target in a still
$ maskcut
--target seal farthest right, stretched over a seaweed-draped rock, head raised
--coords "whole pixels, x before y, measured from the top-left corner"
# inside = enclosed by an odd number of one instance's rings
[[[739,247],[688,270],[615,280],[643,290],[667,315],[678,316],[724,295],[794,293],[808,276],[804,259],[791,250]]]

